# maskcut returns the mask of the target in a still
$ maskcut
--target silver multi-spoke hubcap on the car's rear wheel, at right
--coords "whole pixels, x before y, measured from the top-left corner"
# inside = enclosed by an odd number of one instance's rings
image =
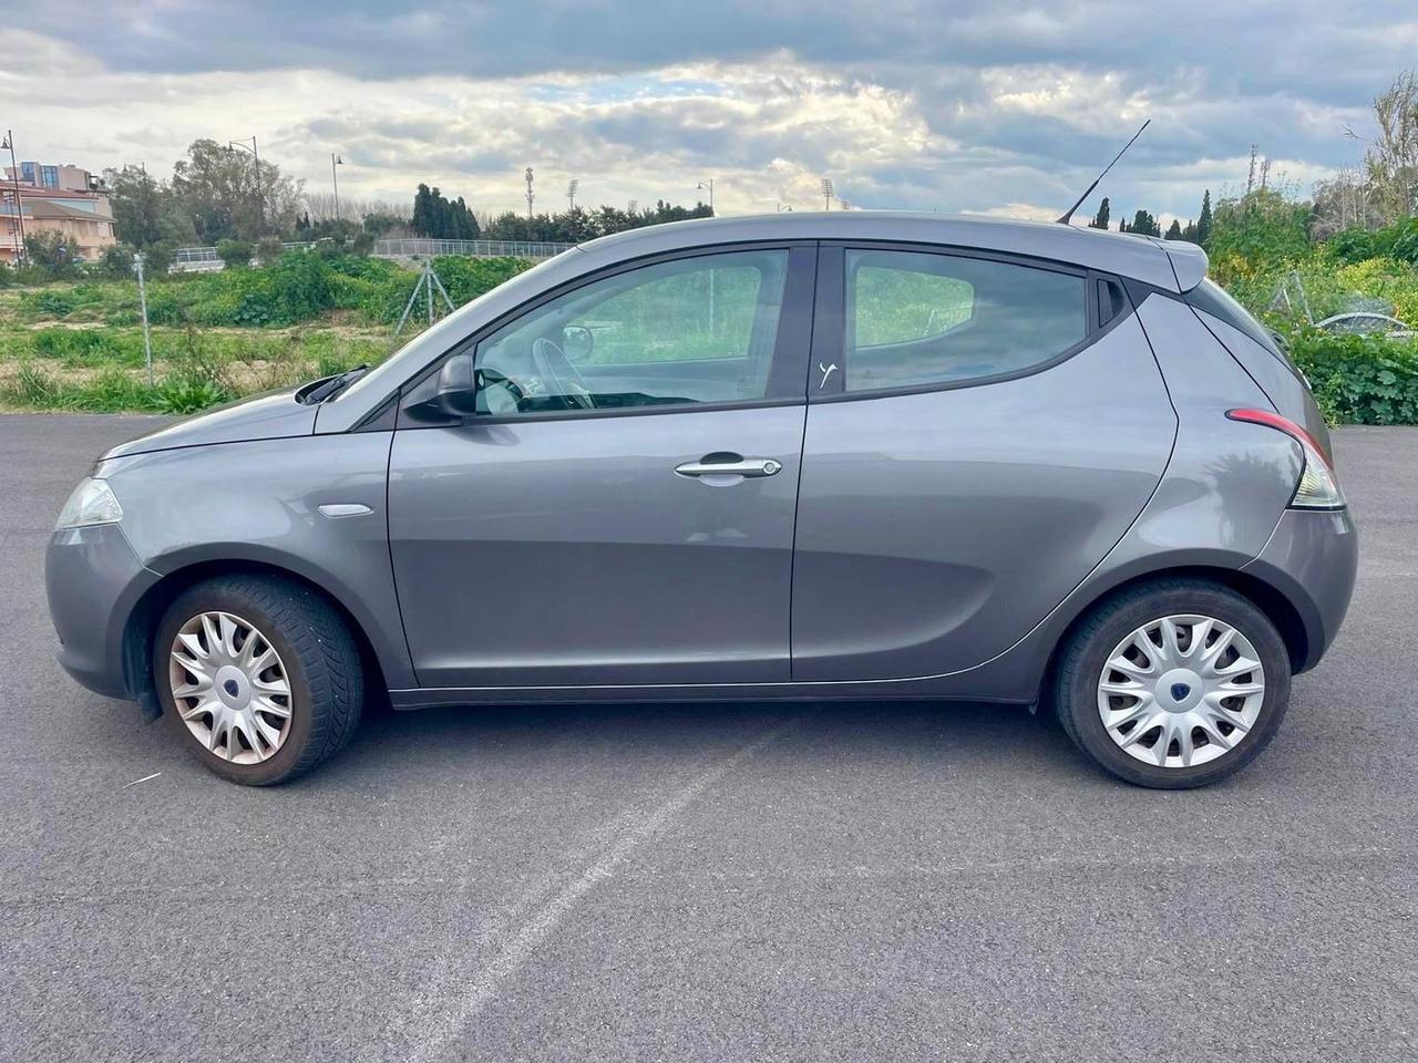
[[[1163,617],[1117,643],[1098,680],[1098,714],[1144,764],[1191,768],[1224,757],[1265,702],[1255,646],[1212,617]]]

